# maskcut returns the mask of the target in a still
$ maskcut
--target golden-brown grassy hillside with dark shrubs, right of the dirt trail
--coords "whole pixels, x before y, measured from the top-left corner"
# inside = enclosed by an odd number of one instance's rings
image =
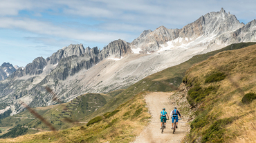
[[[194,65],[183,82],[196,109],[185,142],[255,142],[256,45]]]

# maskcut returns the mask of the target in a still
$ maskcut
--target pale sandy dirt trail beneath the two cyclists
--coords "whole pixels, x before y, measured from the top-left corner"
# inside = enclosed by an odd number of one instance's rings
[[[171,105],[170,100],[168,99],[172,94],[173,93],[154,92],[147,94],[147,96],[145,96],[147,106],[149,108],[150,113],[152,114],[152,119],[151,122],[149,123],[149,126],[145,127],[143,132],[140,133],[138,137],[136,137],[134,143],[181,142],[181,139],[185,136],[185,133],[188,130],[188,122],[186,122],[185,120],[179,120],[179,128],[176,129],[175,134],[172,133],[171,120],[167,120],[167,126],[163,133],[161,133],[160,130],[160,112],[162,111],[163,108],[165,108],[165,111],[167,111],[170,117],[170,112],[174,109],[174,105]]]

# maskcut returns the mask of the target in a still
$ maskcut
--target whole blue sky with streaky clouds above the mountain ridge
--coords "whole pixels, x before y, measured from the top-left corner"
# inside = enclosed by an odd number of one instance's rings
[[[70,44],[102,49],[111,41],[131,42],[143,30],[183,28],[224,8],[240,22],[256,19],[253,0],[1,0],[0,65],[26,66]]]

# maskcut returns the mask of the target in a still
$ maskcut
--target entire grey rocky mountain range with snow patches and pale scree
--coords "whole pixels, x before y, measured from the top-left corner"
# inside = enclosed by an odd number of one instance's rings
[[[196,54],[219,50],[231,43],[256,41],[255,32],[256,20],[244,25],[222,8],[181,29],[161,26],[154,31],[145,30],[131,43],[119,39],[102,50],[69,45],[46,59],[35,58],[24,69],[20,67],[0,81],[0,104],[12,109],[13,115],[24,109],[20,101],[32,107],[55,104],[46,86],[64,102],[88,92],[127,88]]]

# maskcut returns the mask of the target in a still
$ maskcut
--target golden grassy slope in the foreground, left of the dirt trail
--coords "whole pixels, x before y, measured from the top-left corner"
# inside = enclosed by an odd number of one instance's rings
[[[131,142],[150,118],[144,96],[137,94],[116,110],[98,115],[90,124],[55,132],[23,135],[0,142]]]

